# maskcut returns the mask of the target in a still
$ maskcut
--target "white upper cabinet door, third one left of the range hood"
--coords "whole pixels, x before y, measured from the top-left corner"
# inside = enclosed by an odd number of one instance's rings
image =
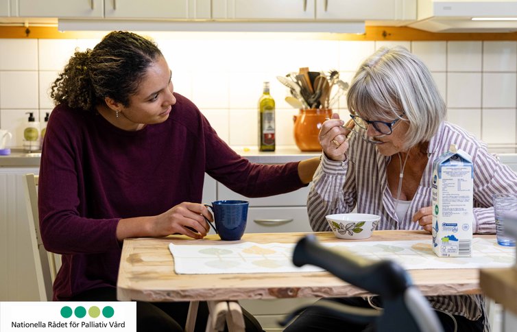
[[[211,0],[104,0],[112,19],[210,19]]]

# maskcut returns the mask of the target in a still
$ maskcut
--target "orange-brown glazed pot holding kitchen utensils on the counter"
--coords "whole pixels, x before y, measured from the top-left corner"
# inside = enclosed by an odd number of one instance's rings
[[[332,116],[330,108],[300,109],[300,114],[293,117],[294,141],[302,151],[321,151],[318,135],[326,118]]]

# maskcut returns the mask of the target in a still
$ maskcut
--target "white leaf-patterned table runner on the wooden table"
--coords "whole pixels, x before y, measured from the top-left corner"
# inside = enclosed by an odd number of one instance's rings
[[[475,238],[472,257],[437,257],[431,241],[344,241],[323,244],[333,250],[373,259],[391,259],[406,270],[450,268],[509,268],[515,248],[499,246],[495,239]],[[177,274],[317,272],[312,265],[292,263],[294,244],[241,242],[223,245],[169,244]]]

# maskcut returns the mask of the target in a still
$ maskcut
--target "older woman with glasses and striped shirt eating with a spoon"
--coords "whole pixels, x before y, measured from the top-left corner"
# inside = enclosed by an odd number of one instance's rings
[[[325,215],[381,215],[377,229],[431,232],[433,161],[450,144],[474,164],[474,233],[494,233],[494,193],[515,193],[517,176],[486,145],[444,121],[446,106],[431,73],[403,47],[381,48],[365,60],[348,91],[349,126],[337,115],[320,130],[324,156],[313,178],[308,210],[315,231],[330,230]],[[431,241],[431,238],[429,238]],[[428,298],[445,331],[483,331],[483,297]],[[340,299],[362,307],[378,298]],[[307,310],[288,331],[363,331],[367,327],[322,317]]]

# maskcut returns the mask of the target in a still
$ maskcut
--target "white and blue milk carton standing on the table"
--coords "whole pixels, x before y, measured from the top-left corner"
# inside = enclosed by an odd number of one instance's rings
[[[450,145],[433,162],[433,251],[439,257],[468,257],[472,251],[472,158]]]

